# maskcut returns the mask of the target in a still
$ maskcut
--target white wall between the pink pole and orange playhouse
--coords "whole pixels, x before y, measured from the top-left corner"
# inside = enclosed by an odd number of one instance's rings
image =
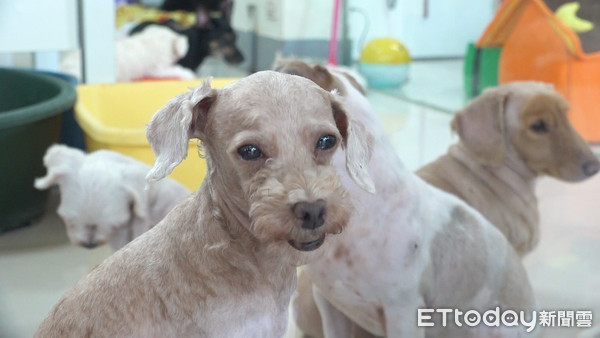
[[[402,41],[413,57],[462,56],[492,20],[496,0],[398,0],[391,11],[385,0],[348,0],[369,16],[366,42],[376,37]],[[425,16],[425,2],[428,12]],[[350,35],[358,39],[362,16],[350,11]],[[354,50],[354,55],[358,52]]]

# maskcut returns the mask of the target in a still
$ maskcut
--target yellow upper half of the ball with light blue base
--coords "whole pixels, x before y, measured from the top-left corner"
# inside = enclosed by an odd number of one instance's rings
[[[360,61],[366,63],[405,64],[410,62],[406,47],[392,38],[371,40],[362,50]]]

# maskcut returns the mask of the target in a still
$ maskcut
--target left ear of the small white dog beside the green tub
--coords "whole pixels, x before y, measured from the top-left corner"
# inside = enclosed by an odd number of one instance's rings
[[[85,153],[79,149],[69,148],[64,145],[52,145],[44,155],[44,165],[48,172],[46,176],[37,178],[33,183],[36,189],[48,189],[68,175],[77,170],[83,161]]]

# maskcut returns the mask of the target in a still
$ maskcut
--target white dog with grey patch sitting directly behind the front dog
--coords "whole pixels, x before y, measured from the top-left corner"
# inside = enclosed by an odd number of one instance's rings
[[[443,327],[437,313],[429,321],[435,326],[417,325],[419,309],[483,313],[500,307],[530,317],[535,301],[517,253],[477,211],[402,165],[366,97],[346,74],[297,61],[276,69],[340,90],[348,114],[375,135],[369,172],[377,193],[365,193],[344,178],[357,208],[347,229],[328,243],[325,257],[304,268],[293,304],[300,329],[313,336],[350,337],[357,333],[354,321],[370,332],[359,330],[362,334],[386,337],[525,334],[523,325],[458,327],[451,323],[454,317]],[[341,155],[334,157],[339,172]]]

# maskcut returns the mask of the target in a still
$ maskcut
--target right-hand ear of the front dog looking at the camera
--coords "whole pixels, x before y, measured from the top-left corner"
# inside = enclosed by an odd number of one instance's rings
[[[342,135],[346,151],[346,170],[356,184],[374,194],[375,184],[369,176],[368,165],[373,155],[373,135],[357,120],[351,119],[343,105],[332,95],[331,107],[335,124]]]

